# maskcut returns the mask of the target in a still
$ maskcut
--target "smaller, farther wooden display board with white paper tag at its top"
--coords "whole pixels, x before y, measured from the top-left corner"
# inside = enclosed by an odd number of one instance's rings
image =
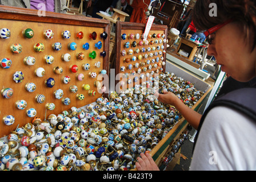
[[[141,84],[143,81],[149,80],[149,78],[146,77],[146,73],[160,73],[161,70],[165,72],[167,26],[153,24],[150,28],[149,36],[147,36],[146,39],[149,42],[148,44],[145,44],[145,40],[142,38],[146,24],[117,22],[116,28],[114,67],[116,76],[115,89],[117,91],[119,89],[125,90],[126,88],[131,88],[135,84]],[[137,34],[139,38],[136,38]],[[125,35],[126,38],[124,38]],[[134,38],[131,38],[131,35],[134,35]],[[155,37],[153,35],[155,35]],[[157,37],[157,35],[159,36]],[[135,45],[133,46],[134,42]],[[142,42],[142,44],[140,44],[140,42]],[[125,47],[127,43],[130,44],[129,47]],[[138,49],[138,52],[136,52],[135,49]],[[133,59],[134,57],[135,59]],[[130,60],[129,63],[125,61],[128,59]],[[135,64],[138,66],[136,67]],[[122,67],[125,68],[124,71],[121,70]],[[151,69],[149,67],[151,67]],[[141,69],[141,72],[138,72],[139,69]],[[129,77],[125,77],[127,73]],[[154,76],[154,73],[151,73],[151,76]],[[141,77],[142,75],[144,75],[144,78]],[[138,81],[134,80],[135,77],[138,77]]]

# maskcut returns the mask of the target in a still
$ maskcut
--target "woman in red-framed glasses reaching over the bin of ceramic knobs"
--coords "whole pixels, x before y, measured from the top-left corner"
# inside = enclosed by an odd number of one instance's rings
[[[174,105],[198,130],[191,170],[256,169],[256,144],[252,142],[256,137],[255,4],[254,0],[197,0],[193,10],[197,29],[207,30],[208,55],[215,57],[223,72],[238,82],[249,82],[250,86],[225,91],[203,115],[183,105],[173,93],[159,94],[159,101]],[[212,5],[217,7],[217,16],[209,15]],[[236,99],[235,104],[219,104]],[[240,105],[246,109],[237,109]],[[138,170],[158,170],[150,155],[142,154],[136,166]]]

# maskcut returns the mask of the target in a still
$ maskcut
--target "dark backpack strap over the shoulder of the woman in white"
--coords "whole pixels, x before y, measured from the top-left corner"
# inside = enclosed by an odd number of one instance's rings
[[[194,146],[197,142],[197,137],[206,115],[211,109],[213,109],[213,107],[216,106],[227,106],[237,111],[241,111],[256,122],[256,88],[253,87],[234,90],[233,92],[227,93],[225,96],[214,100],[202,115],[198,126],[197,135],[195,136]]]

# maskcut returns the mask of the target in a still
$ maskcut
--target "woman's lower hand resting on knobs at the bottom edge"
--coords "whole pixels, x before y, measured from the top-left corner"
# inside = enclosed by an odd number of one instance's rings
[[[160,171],[157,164],[150,154],[141,153],[141,158],[137,158],[138,162],[135,163],[138,171]]]

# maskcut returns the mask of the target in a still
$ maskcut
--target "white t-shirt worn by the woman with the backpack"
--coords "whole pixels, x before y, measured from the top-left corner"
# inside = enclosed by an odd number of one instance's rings
[[[198,135],[190,170],[256,170],[256,121],[229,107],[209,111]]]

